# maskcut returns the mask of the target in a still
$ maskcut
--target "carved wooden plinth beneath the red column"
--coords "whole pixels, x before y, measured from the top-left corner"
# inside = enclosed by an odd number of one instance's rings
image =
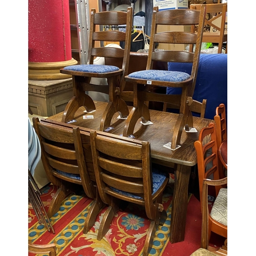
[[[65,110],[73,97],[72,78],[28,80],[29,107],[33,114],[52,116]]]

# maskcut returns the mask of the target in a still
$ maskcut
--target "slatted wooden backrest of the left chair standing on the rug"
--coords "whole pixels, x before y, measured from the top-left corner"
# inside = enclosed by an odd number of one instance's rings
[[[40,141],[41,160],[48,179],[59,187],[67,182],[82,185],[86,195],[94,198],[95,188],[88,174],[79,129],[73,131],[39,121],[37,117],[33,117],[33,126]]]

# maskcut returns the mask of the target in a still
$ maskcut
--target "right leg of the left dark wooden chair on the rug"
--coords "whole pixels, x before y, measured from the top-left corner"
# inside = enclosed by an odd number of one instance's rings
[[[89,230],[93,227],[95,224],[95,220],[99,212],[102,210],[102,208],[105,206],[105,204],[102,201],[93,200],[93,203],[89,209],[89,212],[86,217],[86,221],[84,222],[83,226],[83,233],[87,234]]]

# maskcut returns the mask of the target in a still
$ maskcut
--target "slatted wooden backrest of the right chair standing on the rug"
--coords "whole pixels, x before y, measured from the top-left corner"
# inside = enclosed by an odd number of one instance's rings
[[[150,142],[124,142],[91,132],[92,155],[99,194],[111,204],[112,196],[144,205],[147,217],[154,219]],[[120,195],[120,191],[124,191]],[[132,193],[136,197],[129,197]]]

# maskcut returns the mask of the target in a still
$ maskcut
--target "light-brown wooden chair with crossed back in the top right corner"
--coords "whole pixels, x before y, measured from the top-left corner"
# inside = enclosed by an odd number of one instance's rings
[[[201,5],[190,5],[192,10],[200,10]],[[223,42],[227,42],[227,32],[225,33],[225,20],[227,13],[227,3],[207,4],[206,18],[204,26],[206,31],[203,33],[202,42],[213,42],[218,44],[218,53],[222,53]],[[195,26],[191,26],[191,31],[195,31]],[[226,51],[227,53],[227,43]]]

